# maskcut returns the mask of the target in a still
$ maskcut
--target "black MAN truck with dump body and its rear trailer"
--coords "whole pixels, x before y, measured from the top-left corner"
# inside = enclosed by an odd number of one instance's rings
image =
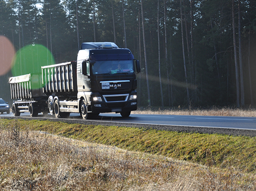
[[[139,60],[113,42],[83,42],[76,61],[42,66],[41,73],[9,78],[12,111],[88,119],[102,112],[127,117],[137,110]]]

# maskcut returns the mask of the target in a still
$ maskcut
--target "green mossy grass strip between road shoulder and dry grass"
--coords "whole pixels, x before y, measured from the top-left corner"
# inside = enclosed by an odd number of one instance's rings
[[[161,154],[221,168],[256,171],[256,137],[185,133],[123,126],[83,125],[40,120],[0,119],[2,127],[40,130],[90,142]]]

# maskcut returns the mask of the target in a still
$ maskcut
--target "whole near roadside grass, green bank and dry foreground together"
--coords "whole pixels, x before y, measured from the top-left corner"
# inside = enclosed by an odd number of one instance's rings
[[[255,137],[39,120],[0,122],[2,189],[256,189]]]

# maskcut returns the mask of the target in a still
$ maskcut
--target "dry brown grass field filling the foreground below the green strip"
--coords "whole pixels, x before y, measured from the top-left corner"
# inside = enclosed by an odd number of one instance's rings
[[[1,190],[255,190],[255,174],[0,128]]]

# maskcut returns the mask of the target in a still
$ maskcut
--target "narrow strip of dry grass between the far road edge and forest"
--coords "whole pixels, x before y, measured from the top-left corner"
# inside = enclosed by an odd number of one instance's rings
[[[172,114],[172,115],[205,115],[205,116],[254,116],[256,117],[256,109],[254,108],[230,108],[230,107],[211,107],[211,108],[139,108],[132,113],[137,114]]]

